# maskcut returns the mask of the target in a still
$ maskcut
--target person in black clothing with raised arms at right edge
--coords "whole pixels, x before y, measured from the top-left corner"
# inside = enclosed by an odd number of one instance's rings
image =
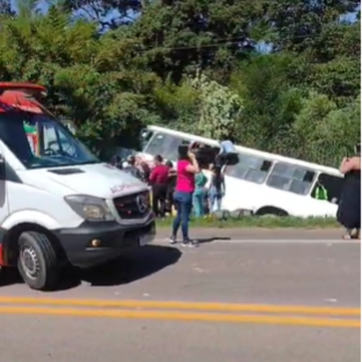
[[[357,230],[357,237],[361,239],[361,150],[356,149],[356,155],[345,157],[340,171],[345,176],[340,204],[337,211],[338,222],[346,228],[344,239],[354,237],[352,231]],[[356,147],[357,148],[357,147]]]

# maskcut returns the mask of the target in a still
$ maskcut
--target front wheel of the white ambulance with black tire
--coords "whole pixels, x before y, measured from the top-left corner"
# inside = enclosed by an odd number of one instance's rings
[[[31,289],[56,289],[60,277],[59,262],[46,235],[34,231],[20,235],[18,269]]]

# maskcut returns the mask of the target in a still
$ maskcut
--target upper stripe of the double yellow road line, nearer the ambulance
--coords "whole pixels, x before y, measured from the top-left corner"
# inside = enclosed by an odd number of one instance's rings
[[[92,299],[53,299],[0,296],[0,304],[30,304],[66,307],[92,308],[146,308],[167,310],[193,310],[214,312],[249,312],[308,314],[325,316],[361,316],[360,308],[342,307],[308,307],[308,306],[277,306],[263,304],[232,304],[202,302],[165,302],[156,300],[92,300]]]

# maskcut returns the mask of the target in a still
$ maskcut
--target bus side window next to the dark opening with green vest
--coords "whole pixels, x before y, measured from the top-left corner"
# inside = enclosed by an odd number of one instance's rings
[[[275,189],[307,195],[312,187],[315,172],[304,167],[282,162],[275,164],[266,184]]]

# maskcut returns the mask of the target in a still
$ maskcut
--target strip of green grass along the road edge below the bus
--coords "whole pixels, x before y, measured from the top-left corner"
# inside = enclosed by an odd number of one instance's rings
[[[157,227],[169,228],[173,217],[157,220]],[[335,218],[296,218],[270,216],[244,216],[240,219],[218,220],[216,218],[191,219],[190,226],[199,228],[300,228],[323,229],[340,228]]]

